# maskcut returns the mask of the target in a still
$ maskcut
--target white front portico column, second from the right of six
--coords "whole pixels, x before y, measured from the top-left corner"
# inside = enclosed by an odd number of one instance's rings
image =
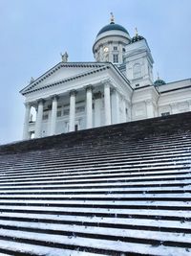
[[[93,87],[86,87],[86,128],[93,127]]]

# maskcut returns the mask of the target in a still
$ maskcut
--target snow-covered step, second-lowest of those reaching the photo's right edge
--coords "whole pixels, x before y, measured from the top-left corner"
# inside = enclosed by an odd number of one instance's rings
[[[44,233],[44,234],[63,234],[66,236],[73,237],[87,237],[87,238],[97,238],[102,237],[102,239],[121,242],[129,242],[131,239],[136,241],[139,239],[145,240],[142,244],[146,244],[146,241],[152,240],[159,241],[161,244],[179,243],[189,244],[191,243],[191,234],[187,233],[173,233],[173,232],[163,232],[163,231],[152,231],[152,230],[133,230],[133,229],[122,229],[122,228],[111,228],[111,227],[101,227],[101,226],[88,226],[86,224],[78,226],[75,224],[55,224],[55,223],[43,223],[43,222],[28,222],[28,221],[2,221],[0,220],[0,227],[12,230],[28,230],[29,232]],[[170,243],[169,243],[170,242]],[[186,246],[186,245],[185,245]],[[188,245],[189,246],[189,245]],[[191,247],[191,244],[190,244]]]

